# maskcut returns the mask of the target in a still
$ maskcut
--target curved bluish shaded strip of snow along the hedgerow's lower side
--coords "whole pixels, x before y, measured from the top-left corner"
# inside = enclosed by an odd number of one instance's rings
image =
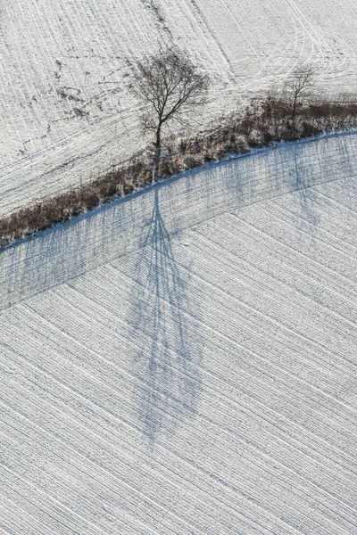
[[[286,193],[357,176],[357,134],[282,144],[197,168],[0,252],[0,310],[144,246],[154,197],[169,235]]]

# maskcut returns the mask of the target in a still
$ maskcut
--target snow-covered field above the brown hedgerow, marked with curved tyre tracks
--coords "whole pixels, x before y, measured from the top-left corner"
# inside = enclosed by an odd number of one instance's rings
[[[205,118],[310,62],[355,91],[353,0],[8,0],[0,7],[0,214],[143,146],[130,62],[166,45],[212,76]]]

